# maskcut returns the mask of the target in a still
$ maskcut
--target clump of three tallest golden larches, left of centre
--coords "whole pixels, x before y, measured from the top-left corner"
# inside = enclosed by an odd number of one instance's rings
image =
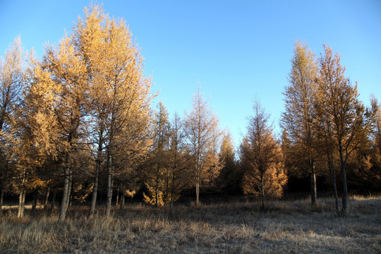
[[[55,109],[61,129],[59,157],[64,158],[65,169],[59,221],[66,215],[73,156],[79,148],[85,148],[80,143],[89,140],[94,144],[95,157],[89,214],[95,210],[99,170],[104,162],[108,172],[106,214],[109,215],[114,176],[147,151],[152,95],[150,79],[143,76],[143,59],[126,23],[109,18],[95,5],[85,8],[85,17],[78,19],[71,35],[59,47],[47,48],[44,65],[56,85],[61,86]]]

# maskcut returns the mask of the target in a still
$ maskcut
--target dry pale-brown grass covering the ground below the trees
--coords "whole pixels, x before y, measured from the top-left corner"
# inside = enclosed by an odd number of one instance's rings
[[[165,208],[131,205],[86,219],[75,207],[56,216],[11,210],[0,222],[0,253],[381,253],[381,198],[352,198],[346,218],[333,200]]]

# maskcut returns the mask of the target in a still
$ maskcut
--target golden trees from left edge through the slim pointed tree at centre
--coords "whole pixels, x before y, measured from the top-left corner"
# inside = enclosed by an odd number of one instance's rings
[[[216,184],[225,161],[217,116],[200,89],[184,119],[169,120],[162,103],[151,109],[156,95],[123,20],[85,8],[59,45],[40,61],[31,53],[26,68],[25,59],[17,38],[0,73],[1,205],[5,192],[18,193],[18,217],[25,195],[41,190],[61,195],[63,222],[73,198],[90,198],[92,217],[99,188],[108,216],[114,188],[122,204],[143,187],[145,201],[161,205],[195,187],[198,205],[200,186]],[[231,139],[224,147],[234,161]]]

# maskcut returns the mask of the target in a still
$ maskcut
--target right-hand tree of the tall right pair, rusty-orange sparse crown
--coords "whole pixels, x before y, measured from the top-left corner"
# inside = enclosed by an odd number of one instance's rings
[[[343,182],[341,214],[346,215],[348,188],[346,183],[346,162],[354,150],[367,138],[370,131],[368,110],[358,100],[357,84],[352,85],[345,78],[345,68],[340,64],[339,54],[323,45],[325,54],[320,56],[318,84],[318,103],[327,114],[332,137],[337,152]]]

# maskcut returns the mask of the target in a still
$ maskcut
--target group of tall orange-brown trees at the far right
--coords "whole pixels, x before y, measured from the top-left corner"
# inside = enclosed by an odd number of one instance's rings
[[[368,181],[373,177],[380,183],[380,105],[372,97],[371,107],[365,108],[358,99],[357,84],[344,75],[339,54],[333,54],[327,45],[323,48],[324,54],[315,59],[306,44],[296,42],[284,92],[282,148],[291,173],[310,174],[313,205],[316,174],[329,172],[337,214],[345,215],[348,164],[356,164],[352,167],[358,176],[366,175]],[[343,192],[341,210],[337,169]]]

